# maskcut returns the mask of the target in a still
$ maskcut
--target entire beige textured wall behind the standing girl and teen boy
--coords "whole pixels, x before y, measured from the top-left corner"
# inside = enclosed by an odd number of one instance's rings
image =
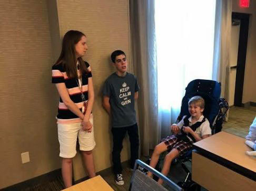
[[[129,1],[12,0],[0,1],[0,7],[0,189],[61,167],[51,66],[69,29],[83,31],[88,39],[85,59],[91,63],[95,89],[95,166],[96,171],[110,167],[112,136],[101,89],[114,71],[110,53],[123,49],[129,60]],[[31,162],[22,164],[21,153],[27,151]],[[121,155],[122,161],[128,159],[127,137]],[[75,179],[85,176],[78,157],[74,169]]]

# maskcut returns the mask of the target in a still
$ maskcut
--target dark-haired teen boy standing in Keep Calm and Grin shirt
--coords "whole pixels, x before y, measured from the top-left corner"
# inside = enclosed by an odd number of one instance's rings
[[[134,102],[138,98],[139,84],[134,75],[127,72],[127,60],[122,50],[111,54],[116,72],[106,79],[103,87],[103,107],[112,119],[112,161],[117,185],[123,185],[120,153],[126,131],[131,143],[131,169],[139,157],[139,135]]]

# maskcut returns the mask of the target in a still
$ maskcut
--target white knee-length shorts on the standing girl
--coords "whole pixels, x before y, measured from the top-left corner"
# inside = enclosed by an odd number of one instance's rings
[[[93,115],[89,121],[93,125]],[[91,151],[95,147],[94,127],[92,132],[84,131],[81,123],[60,124],[58,123],[58,142],[60,142],[60,157],[73,158],[76,155],[76,140],[81,151]]]

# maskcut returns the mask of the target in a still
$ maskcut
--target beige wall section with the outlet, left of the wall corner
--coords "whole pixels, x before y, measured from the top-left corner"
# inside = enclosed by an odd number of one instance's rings
[[[46,1],[0,1],[0,188],[60,168]],[[29,152],[22,164],[21,153]]]

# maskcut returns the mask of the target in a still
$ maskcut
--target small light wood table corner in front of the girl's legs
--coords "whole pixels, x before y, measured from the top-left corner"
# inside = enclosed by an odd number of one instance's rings
[[[108,185],[100,175],[87,179],[87,181],[73,185],[63,190],[64,191],[114,191],[110,187],[110,185]]]

